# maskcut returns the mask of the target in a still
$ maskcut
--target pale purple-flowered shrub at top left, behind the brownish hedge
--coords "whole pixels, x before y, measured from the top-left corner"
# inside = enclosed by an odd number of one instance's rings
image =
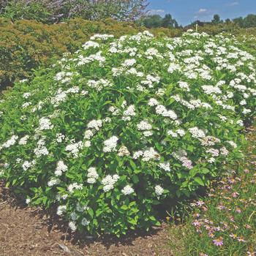
[[[135,20],[143,15],[146,0],[10,0],[0,6],[0,15],[12,20],[53,23],[70,18],[86,20]]]

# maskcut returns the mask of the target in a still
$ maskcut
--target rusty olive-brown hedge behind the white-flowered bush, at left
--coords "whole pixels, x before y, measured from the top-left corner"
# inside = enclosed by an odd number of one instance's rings
[[[47,25],[34,20],[12,23],[0,19],[0,89],[29,76],[31,69],[48,64],[53,56],[74,52],[93,34],[135,34],[145,28],[115,20],[90,21],[80,18]],[[155,35],[176,37],[178,29],[154,29]]]

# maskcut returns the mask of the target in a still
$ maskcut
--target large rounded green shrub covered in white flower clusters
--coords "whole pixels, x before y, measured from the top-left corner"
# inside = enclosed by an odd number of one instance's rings
[[[255,58],[222,35],[95,35],[1,101],[1,177],[72,231],[147,229],[239,156],[255,82]]]

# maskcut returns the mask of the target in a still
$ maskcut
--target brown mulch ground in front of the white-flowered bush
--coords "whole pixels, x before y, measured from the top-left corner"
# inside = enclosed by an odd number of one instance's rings
[[[29,208],[0,182],[1,256],[172,256],[167,224],[148,233],[130,233],[126,238],[92,238],[67,232],[49,211]]]

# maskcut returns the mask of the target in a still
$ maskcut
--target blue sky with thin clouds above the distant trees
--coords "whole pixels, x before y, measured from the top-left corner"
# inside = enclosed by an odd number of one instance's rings
[[[256,0],[148,0],[150,14],[173,15],[179,24],[194,20],[211,20],[214,14],[222,19],[256,14]]]

